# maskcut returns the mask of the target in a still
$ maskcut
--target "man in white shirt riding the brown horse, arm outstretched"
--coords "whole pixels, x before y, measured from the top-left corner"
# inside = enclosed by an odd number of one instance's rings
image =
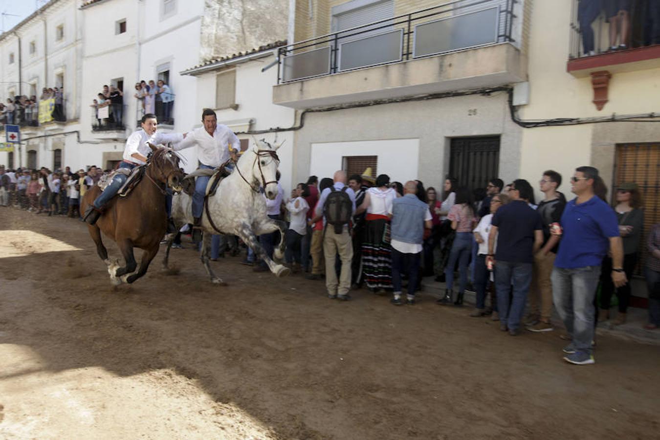
[[[132,135],[126,140],[126,146],[124,148],[123,160],[119,164],[119,168],[127,168],[133,170],[137,166],[141,166],[147,163],[147,156],[151,152],[149,144],[168,144],[170,142],[181,142],[185,135],[181,133],[169,133],[162,134],[156,133],[156,126],[158,121],[156,120],[156,115],[152,113],[147,113],[141,119],[142,129],[135,131]],[[94,200],[94,204],[88,206],[85,210],[82,218],[88,224],[95,224],[96,220],[101,216],[104,210],[104,206],[112,200],[117,194],[117,191],[121,189],[122,185],[125,183],[128,175],[124,173],[116,173],[112,178],[112,182],[98,197]],[[172,222],[168,221],[168,232],[174,232],[172,230]]]

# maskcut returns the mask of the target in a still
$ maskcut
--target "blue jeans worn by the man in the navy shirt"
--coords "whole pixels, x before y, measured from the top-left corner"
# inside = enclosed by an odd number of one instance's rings
[[[497,291],[498,311],[500,323],[506,327],[517,330],[525,313],[525,303],[529,284],[532,281],[532,263],[512,263],[510,261],[496,261],[495,289]],[[513,286],[513,299],[510,303],[509,293]]]

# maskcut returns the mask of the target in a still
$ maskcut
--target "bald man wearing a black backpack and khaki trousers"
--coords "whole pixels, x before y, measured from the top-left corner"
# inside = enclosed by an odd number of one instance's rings
[[[355,193],[346,185],[346,173],[339,170],[333,176],[334,185],[326,188],[316,204],[312,223],[323,218],[323,255],[325,257],[325,287],[328,298],[350,299],[350,264],[353,247],[350,239],[350,218],[355,212]],[[341,274],[337,282],[335,257],[341,259]]]

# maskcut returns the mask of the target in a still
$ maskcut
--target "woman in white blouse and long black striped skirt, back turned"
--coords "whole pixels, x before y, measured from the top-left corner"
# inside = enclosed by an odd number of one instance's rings
[[[364,241],[362,242],[362,274],[373,292],[392,288],[392,249],[389,245],[389,217],[387,212],[396,191],[389,185],[389,176],[376,178],[376,187],[367,190],[356,215],[366,210]]]

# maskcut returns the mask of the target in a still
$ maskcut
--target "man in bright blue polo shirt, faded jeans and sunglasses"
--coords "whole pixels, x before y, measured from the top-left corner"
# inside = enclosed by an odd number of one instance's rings
[[[598,170],[576,168],[571,190],[578,196],[566,203],[562,214],[563,235],[552,270],[552,299],[572,342],[564,347],[564,360],[576,365],[594,363],[593,298],[608,248],[612,252],[614,286],[626,284],[623,244],[614,210],[600,199],[607,189]]]

